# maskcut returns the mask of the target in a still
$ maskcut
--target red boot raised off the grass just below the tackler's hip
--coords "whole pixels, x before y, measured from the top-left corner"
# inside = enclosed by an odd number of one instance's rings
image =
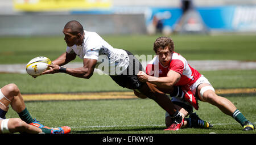
[[[191,104],[196,110],[199,109],[196,97],[193,95],[191,89],[188,86],[182,86],[182,91],[184,92],[184,100]]]

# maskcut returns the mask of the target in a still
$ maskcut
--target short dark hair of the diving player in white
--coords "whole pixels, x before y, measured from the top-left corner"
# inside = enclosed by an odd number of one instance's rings
[[[65,24],[64,26],[65,29],[71,29],[71,33],[72,35],[77,35],[78,33],[83,34],[84,33],[84,28],[82,27],[82,25],[76,21],[76,20],[71,20],[69,21],[67,24]]]

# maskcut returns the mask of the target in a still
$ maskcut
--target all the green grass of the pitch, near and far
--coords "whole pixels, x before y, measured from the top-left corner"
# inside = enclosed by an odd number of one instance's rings
[[[103,36],[115,48],[134,54],[154,54],[152,44],[159,36]],[[172,36],[176,52],[192,59],[233,59],[255,61],[256,36]],[[31,58],[57,58],[65,51],[63,37],[0,37],[0,63],[27,63]],[[77,58],[75,61],[80,61]],[[214,88],[256,88],[256,70],[200,71]],[[67,74],[39,76],[0,74],[0,86],[15,83],[22,93],[128,91],[107,75],[94,74],[89,80]],[[229,93],[231,100],[247,119],[256,124],[256,93]],[[164,110],[150,99],[26,101],[32,117],[50,127],[70,126],[74,134],[242,134],[242,127],[213,105],[200,102],[199,116],[211,122],[212,129],[163,131]],[[18,117],[10,109],[7,118]]]

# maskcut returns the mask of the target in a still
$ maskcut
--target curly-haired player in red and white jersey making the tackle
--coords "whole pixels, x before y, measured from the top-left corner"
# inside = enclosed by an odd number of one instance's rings
[[[146,73],[139,71],[142,82],[150,82],[159,87],[189,87],[198,100],[217,106],[223,113],[233,117],[241,124],[243,130],[254,130],[254,125],[226,99],[216,95],[208,79],[191,67],[187,60],[174,52],[174,41],[169,37],[159,37],[154,42],[156,57],[147,65]],[[157,76],[157,77],[156,77]],[[170,125],[170,129],[175,124]]]

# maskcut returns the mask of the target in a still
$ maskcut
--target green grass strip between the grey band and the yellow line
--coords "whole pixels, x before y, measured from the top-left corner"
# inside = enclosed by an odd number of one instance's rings
[[[256,70],[200,71],[214,88],[256,88]],[[90,79],[67,74],[42,75],[34,79],[27,74],[0,74],[0,86],[15,83],[22,93],[61,93],[129,91],[119,87],[108,75],[94,73]]]

